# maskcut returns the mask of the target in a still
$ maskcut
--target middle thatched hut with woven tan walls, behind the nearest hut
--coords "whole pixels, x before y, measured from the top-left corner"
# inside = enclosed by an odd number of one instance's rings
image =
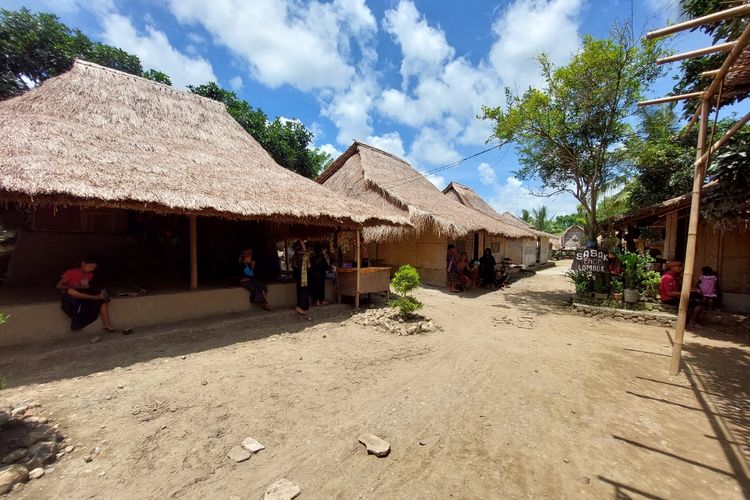
[[[411,228],[365,229],[369,257],[388,266],[412,264],[428,284],[445,284],[449,243],[472,257],[492,241],[528,234],[449,199],[403,159],[361,142],[352,144],[317,180],[383,214],[407,217]]]

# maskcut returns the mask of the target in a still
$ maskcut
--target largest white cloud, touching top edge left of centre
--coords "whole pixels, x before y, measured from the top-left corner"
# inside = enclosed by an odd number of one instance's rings
[[[348,63],[350,39],[364,44],[377,29],[364,0],[169,0],[169,6],[180,22],[201,24],[270,87],[345,89],[356,74]]]

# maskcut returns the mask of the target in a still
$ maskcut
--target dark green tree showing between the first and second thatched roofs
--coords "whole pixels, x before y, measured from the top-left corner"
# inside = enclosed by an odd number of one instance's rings
[[[260,143],[282,167],[314,179],[322,170],[329,156],[310,147],[313,134],[298,120],[276,118],[269,121],[260,108],[253,108],[232,91],[219,87],[214,82],[192,86],[194,94],[224,103],[227,112]]]

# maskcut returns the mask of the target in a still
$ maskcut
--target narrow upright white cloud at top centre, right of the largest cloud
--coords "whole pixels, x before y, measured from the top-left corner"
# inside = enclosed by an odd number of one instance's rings
[[[409,79],[437,74],[443,63],[453,58],[453,47],[445,33],[431,27],[410,0],[401,0],[396,9],[385,11],[383,28],[401,46],[401,87],[409,87]]]

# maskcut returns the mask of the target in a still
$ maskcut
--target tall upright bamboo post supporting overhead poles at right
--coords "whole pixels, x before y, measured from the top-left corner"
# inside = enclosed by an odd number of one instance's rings
[[[711,109],[711,101],[704,99],[701,102],[700,127],[698,129],[698,147],[696,157],[703,156],[706,147],[706,130],[708,129],[708,113]],[[688,303],[690,301],[690,289],[693,285],[693,268],[695,267],[695,247],[698,236],[698,219],[700,218],[701,189],[703,188],[703,177],[706,173],[704,168],[708,164],[708,158],[696,163],[693,174],[693,196],[690,202],[690,219],[688,221],[688,237],[685,249],[685,269],[682,274],[682,290],[680,292],[680,309],[677,312],[677,326],[674,332],[674,344],[672,345],[672,359],[669,363],[669,373],[677,375],[680,372],[680,361],[682,359],[682,341],[685,336],[685,325],[687,324]]]

